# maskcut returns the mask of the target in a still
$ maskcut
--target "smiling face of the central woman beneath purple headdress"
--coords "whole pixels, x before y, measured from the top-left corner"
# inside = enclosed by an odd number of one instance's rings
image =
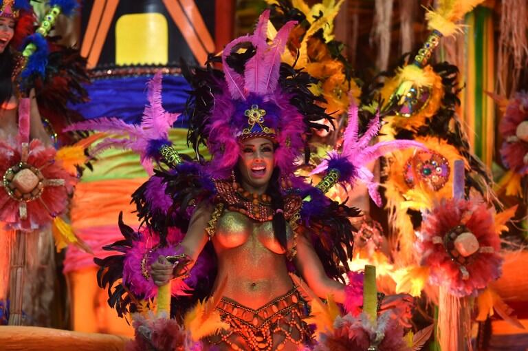
[[[248,191],[263,193],[270,182],[274,167],[273,143],[266,138],[241,142],[239,171]]]

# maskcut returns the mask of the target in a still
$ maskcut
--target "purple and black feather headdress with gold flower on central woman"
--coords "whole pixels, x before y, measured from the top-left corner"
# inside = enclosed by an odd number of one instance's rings
[[[270,11],[261,14],[252,34],[228,43],[221,55],[223,72],[208,67],[184,75],[194,88],[188,100],[189,141],[206,143],[212,155],[207,171],[215,178],[230,174],[239,157],[241,138],[264,137],[276,143],[275,162],[283,174],[296,169],[309,127],[329,118],[308,89],[315,83],[305,72],[282,63],[289,21],[267,40]],[[204,81],[207,89],[204,89]]]

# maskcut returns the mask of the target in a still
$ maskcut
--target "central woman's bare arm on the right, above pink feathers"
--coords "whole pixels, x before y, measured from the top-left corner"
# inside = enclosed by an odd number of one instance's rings
[[[297,254],[294,264],[309,288],[318,297],[326,299],[328,295],[333,295],[336,302],[344,303],[344,285],[327,276],[314,247],[305,235],[297,237]]]

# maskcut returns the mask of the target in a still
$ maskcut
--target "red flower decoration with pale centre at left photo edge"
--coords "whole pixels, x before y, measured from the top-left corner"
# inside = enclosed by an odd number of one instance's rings
[[[0,142],[0,221],[31,231],[65,211],[78,180],[54,160],[55,154],[39,140],[16,147]]]

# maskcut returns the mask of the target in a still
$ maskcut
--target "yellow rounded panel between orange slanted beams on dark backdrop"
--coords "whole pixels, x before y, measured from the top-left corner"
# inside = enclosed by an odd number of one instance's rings
[[[163,14],[124,14],[115,23],[116,65],[166,65],[168,25]]]

